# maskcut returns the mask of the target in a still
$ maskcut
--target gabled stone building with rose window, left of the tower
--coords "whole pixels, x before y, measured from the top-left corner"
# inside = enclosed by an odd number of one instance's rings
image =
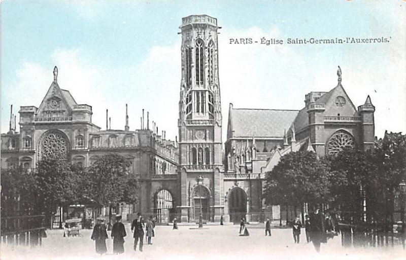
[[[10,130],[1,138],[1,167],[22,165],[30,170],[42,158],[53,155],[87,167],[100,156],[117,153],[130,162],[129,172],[137,176],[141,188],[138,204],[123,205],[117,213],[122,213],[123,219],[134,212],[155,213],[168,221],[169,211],[177,203],[173,198],[180,196],[177,143],[150,129],[148,117],[141,129],[130,130],[127,117],[124,130],[101,130],[92,123],[92,107],[77,104],[69,91],[60,89],[57,76],[55,67],[54,80],[39,107],[20,107],[18,130],[11,115]],[[86,217],[94,217],[89,212]],[[70,217],[69,213],[62,212],[63,218]]]

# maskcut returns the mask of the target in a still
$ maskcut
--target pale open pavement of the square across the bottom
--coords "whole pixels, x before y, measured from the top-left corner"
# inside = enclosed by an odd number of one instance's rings
[[[271,237],[265,237],[262,226],[248,226],[250,236],[240,237],[239,226],[157,226],[153,245],[144,242],[144,251],[133,251],[130,226],[126,225],[125,253],[114,255],[113,243],[107,241],[108,253],[97,255],[91,230],[82,230],[81,237],[63,237],[62,230],[47,231],[42,247],[10,247],[3,245],[1,259],[405,259],[402,247],[343,248],[341,237],[334,237],[322,244],[316,253],[311,243],[306,243],[304,231],[300,243],[293,242],[290,229],[273,229]],[[108,232],[110,237],[110,232]],[[137,248],[138,250],[138,248]]]

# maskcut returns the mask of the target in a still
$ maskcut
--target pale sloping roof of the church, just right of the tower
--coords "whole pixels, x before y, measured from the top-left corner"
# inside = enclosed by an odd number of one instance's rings
[[[298,110],[231,108],[232,137],[283,137]]]

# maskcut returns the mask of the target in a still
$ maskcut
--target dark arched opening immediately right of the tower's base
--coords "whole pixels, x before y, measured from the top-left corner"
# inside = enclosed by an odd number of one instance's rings
[[[243,189],[236,187],[228,194],[228,212],[231,222],[238,223],[241,218],[246,219],[247,193]]]

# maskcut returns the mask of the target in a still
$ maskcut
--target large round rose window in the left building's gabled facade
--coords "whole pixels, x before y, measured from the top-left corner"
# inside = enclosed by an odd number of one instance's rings
[[[49,133],[41,143],[42,156],[51,158],[66,157],[66,140],[59,133]]]

